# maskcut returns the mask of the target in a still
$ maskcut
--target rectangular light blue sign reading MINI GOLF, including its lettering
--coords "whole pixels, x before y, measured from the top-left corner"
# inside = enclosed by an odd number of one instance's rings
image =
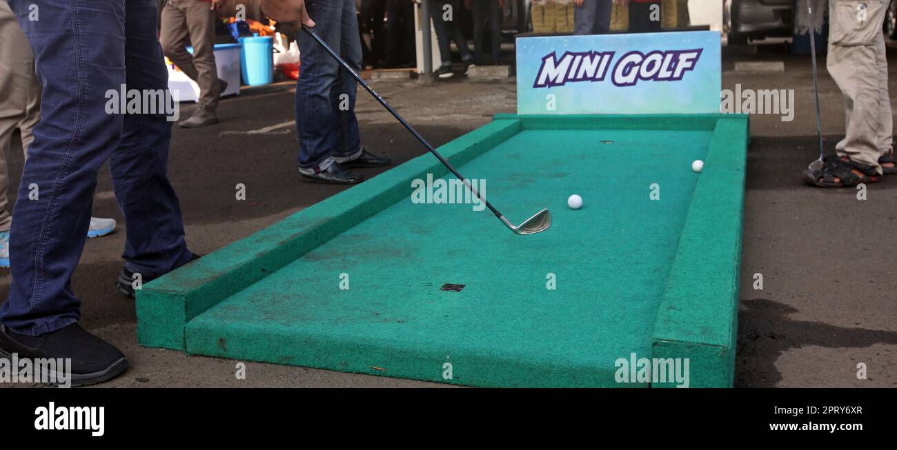
[[[518,114],[718,113],[720,59],[716,31],[520,38]]]

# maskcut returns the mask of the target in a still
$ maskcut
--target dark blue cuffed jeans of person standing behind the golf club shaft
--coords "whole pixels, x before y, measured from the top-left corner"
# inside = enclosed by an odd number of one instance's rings
[[[330,48],[361,72],[361,37],[354,0],[305,2],[315,32]],[[327,169],[334,161],[361,155],[361,136],[355,118],[355,79],[314,39],[300,31],[302,70],[296,82],[296,132],[299,168]],[[342,107],[342,108],[341,108]]]

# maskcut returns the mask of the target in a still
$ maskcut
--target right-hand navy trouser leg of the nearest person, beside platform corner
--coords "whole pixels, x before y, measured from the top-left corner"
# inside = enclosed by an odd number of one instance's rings
[[[168,69],[155,25],[153,0],[126,0],[125,67],[128,89],[168,90]],[[112,187],[125,215],[128,270],[144,280],[187,264],[184,221],[168,177],[171,124],[164,114],[124,117],[121,141],[109,158]]]

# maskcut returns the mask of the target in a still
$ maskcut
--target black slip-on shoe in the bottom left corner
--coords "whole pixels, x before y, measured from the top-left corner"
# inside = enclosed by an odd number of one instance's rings
[[[95,385],[119,376],[127,369],[127,359],[120,350],[109,342],[87,333],[78,324],[65,326],[60,330],[40,336],[15,333],[0,326],[0,357],[71,359],[70,381],[73,386]],[[39,370],[40,365],[35,365]],[[65,370],[65,366],[63,366]],[[58,371],[57,371],[58,372]],[[49,380],[50,374],[34,374],[36,381]],[[63,376],[57,376],[56,380]]]

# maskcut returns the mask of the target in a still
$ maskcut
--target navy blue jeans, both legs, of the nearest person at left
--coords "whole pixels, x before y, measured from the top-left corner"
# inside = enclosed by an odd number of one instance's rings
[[[187,264],[192,255],[167,175],[171,122],[164,109],[107,112],[110,92],[122,84],[167,92],[155,2],[9,4],[34,51],[44,91],[13,211],[13,284],[0,322],[17,333],[39,335],[81,316],[71,277],[87,238],[97,173],[107,160],[125,215],[127,268],[146,280]],[[37,21],[29,20],[30,4],[39,6]]]

